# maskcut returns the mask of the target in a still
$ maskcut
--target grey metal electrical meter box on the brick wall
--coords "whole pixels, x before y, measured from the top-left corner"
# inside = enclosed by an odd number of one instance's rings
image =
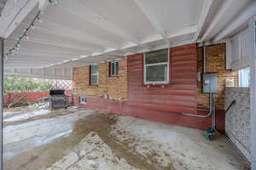
[[[203,93],[216,94],[218,92],[218,74],[204,74]]]

